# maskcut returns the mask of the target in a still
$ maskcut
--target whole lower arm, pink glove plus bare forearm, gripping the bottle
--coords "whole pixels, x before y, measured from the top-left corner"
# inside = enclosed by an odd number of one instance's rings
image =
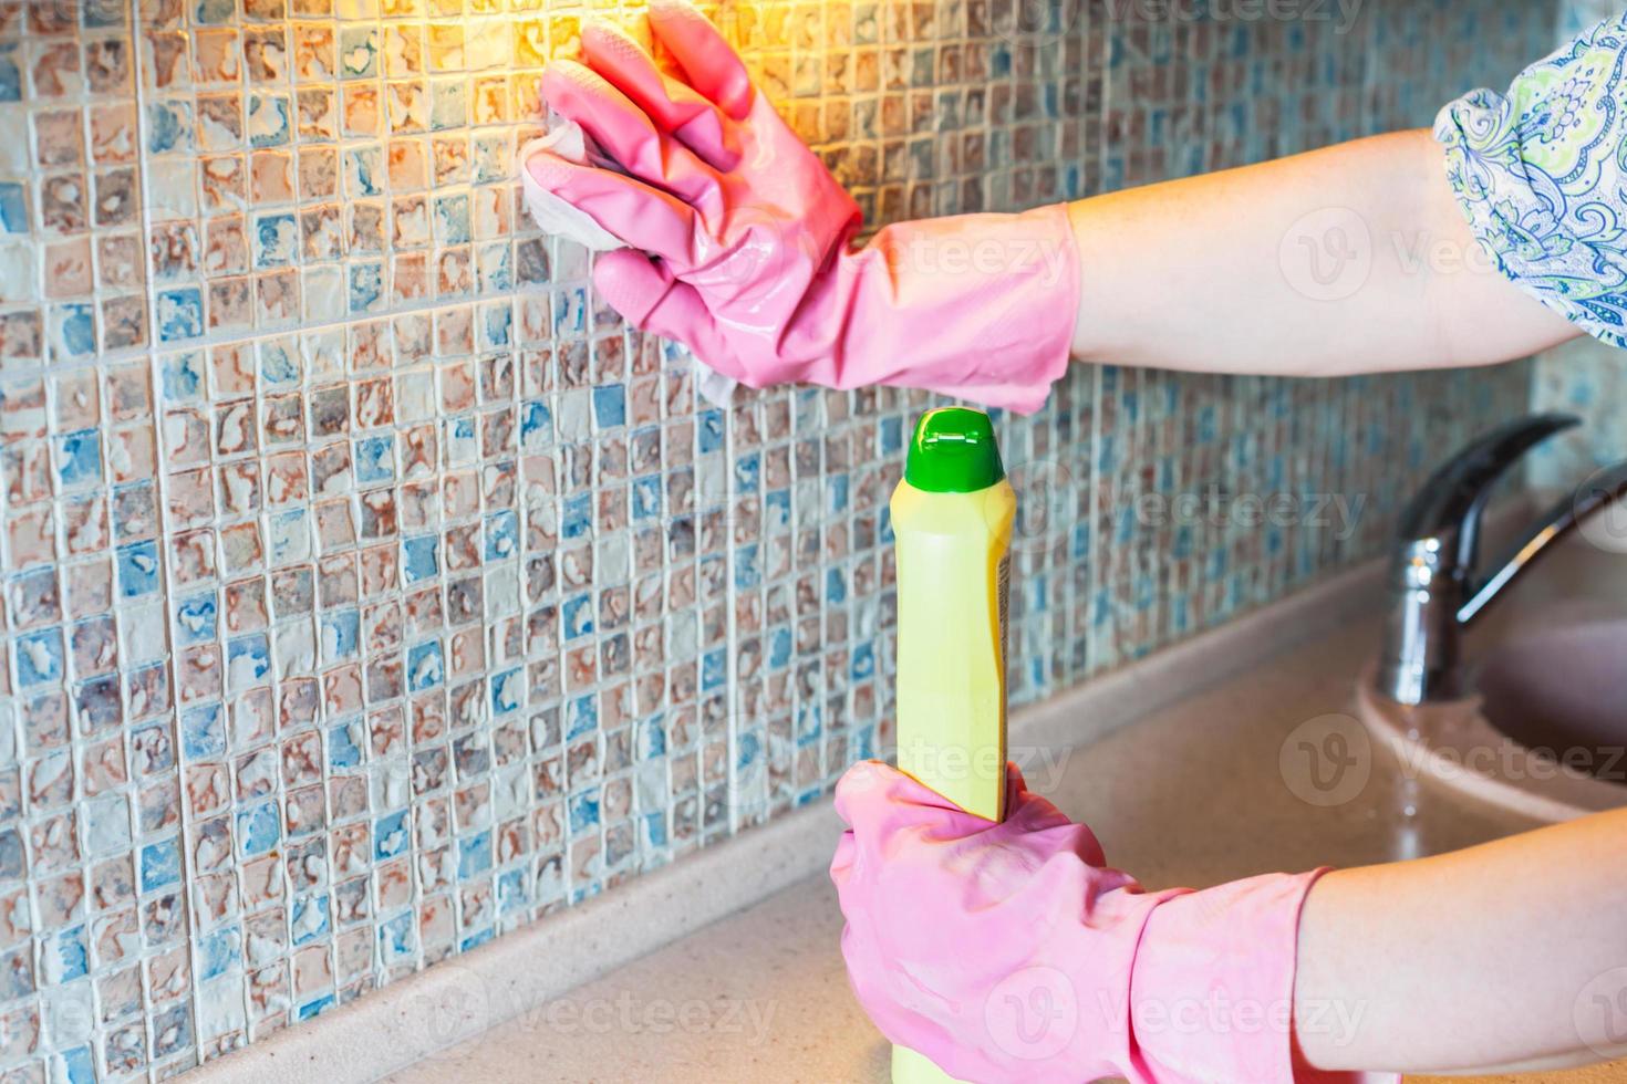
[[[1594,1022],[1627,959],[1627,809],[1145,892],[1015,769],[1007,785],[999,824],[883,764],[836,785],[848,978],[887,1038],[958,1079],[1376,1084],[1627,1055]]]

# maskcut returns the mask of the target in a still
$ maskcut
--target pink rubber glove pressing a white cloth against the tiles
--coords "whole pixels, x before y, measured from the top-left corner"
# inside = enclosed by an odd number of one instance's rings
[[[643,330],[752,387],[921,387],[1033,411],[1067,364],[1079,255],[1062,206],[882,229],[851,249],[859,206],[695,8],[654,0],[682,68],[607,24],[586,65],[543,73],[548,106],[626,174],[537,154],[532,177],[631,249],[594,286]],[[646,255],[648,254],[648,255]]]

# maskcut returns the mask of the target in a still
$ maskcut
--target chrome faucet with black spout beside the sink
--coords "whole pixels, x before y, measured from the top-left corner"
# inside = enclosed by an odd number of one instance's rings
[[[1463,631],[1554,541],[1627,496],[1627,463],[1593,475],[1549,509],[1490,575],[1477,577],[1481,522],[1497,479],[1531,447],[1577,424],[1573,414],[1531,414],[1498,426],[1448,460],[1407,504],[1389,559],[1381,694],[1401,704],[1463,696]]]

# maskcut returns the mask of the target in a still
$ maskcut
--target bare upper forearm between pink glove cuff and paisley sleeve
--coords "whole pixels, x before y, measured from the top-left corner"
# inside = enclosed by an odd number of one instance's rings
[[[1277,375],[1489,364],[1577,332],[1476,247],[1427,132],[1079,200],[1082,361]]]

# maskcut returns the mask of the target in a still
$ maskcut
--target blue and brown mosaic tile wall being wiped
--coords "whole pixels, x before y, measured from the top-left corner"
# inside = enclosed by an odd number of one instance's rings
[[[1424,124],[1539,8],[721,18],[880,223]],[[927,400],[709,408],[527,228],[509,158],[584,15],[0,0],[0,1079],[171,1076],[887,749]],[[1001,419],[1015,699],[1372,556],[1526,393],[1079,367]]]

